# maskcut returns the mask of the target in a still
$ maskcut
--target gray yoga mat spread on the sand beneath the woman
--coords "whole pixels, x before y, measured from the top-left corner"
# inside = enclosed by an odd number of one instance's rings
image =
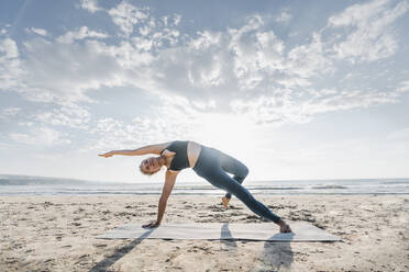
[[[258,240],[258,241],[339,241],[340,237],[306,222],[290,222],[292,233],[280,234],[278,226],[269,224],[189,223],[163,224],[145,229],[142,224],[117,227],[99,239],[183,239],[183,240]]]

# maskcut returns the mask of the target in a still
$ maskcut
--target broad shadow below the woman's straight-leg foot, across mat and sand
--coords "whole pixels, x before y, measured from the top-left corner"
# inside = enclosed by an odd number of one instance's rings
[[[288,240],[292,240],[294,233],[290,234],[276,234],[269,239],[280,239],[286,237]],[[264,243],[263,259],[264,263],[270,267],[270,271],[290,271],[294,261],[294,253],[291,250],[290,241],[272,242],[266,241]]]

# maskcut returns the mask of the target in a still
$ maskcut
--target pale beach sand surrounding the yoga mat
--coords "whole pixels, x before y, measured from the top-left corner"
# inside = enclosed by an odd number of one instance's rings
[[[158,196],[0,196],[0,271],[409,271],[409,195],[257,199],[342,241],[101,240],[115,226],[156,219]],[[164,222],[261,223],[231,204],[172,195]]]

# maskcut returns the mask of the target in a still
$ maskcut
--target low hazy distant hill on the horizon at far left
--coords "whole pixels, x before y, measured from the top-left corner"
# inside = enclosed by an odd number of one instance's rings
[[[53,185],[53,184],[91,185],[96,183],[98,182],[76,179],[0,174],[0,185]]]

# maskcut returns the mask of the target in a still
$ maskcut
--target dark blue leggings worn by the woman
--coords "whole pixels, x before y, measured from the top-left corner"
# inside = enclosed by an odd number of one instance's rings
[[[277,223],[280,217],[274,214],[254,196],[241,183],[248,173],[248,169],[241,161],[225,155],[218,149],[201,146],[199,158],[194,171],[209,181],[213,186],[226,191],[225,196],[233,194],[241,200],[253,213]],[[231,178],[228,173],[232,173]]]

